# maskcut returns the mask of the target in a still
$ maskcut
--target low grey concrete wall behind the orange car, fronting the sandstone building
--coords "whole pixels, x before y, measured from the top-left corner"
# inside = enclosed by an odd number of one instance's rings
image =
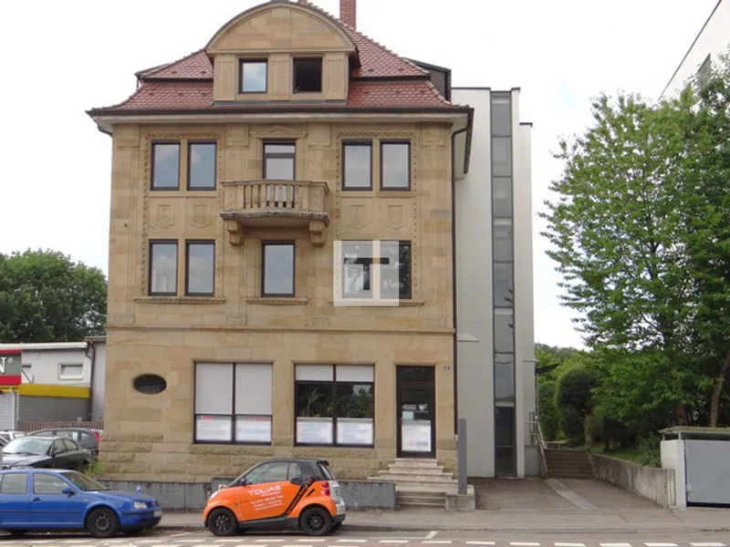
[[[112,490],[134,491],[141,486],[142,492],[153,496],[165,509],[202,511],[205,501],[214,490],[234,480],[235,477],[214,477],[210,482],[132,482],[128,480],[99,480]],[[339,480],[340,492],[347,508],[352,511],[365,509],[395,510],[398,497],[392,482],[370,480]]]

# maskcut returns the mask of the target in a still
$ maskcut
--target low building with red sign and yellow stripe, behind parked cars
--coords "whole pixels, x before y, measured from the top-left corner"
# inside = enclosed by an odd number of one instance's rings
[[[84,342],[0,344],[0,429],[19,422],[104,418],[103,336]]]

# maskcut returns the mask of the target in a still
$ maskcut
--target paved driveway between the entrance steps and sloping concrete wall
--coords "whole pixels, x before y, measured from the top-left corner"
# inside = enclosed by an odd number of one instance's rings
[[[476,508],[485,511],[659,509],[652,501],[603,480],[470,479]]]

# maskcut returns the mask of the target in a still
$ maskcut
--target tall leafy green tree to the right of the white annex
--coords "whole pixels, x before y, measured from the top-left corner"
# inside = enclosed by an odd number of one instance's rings
[[[601,96],[592,112],[559,143],[543,216],[594,401],[639,434],[716,425],[730,377],[730,62],[678,98]]]

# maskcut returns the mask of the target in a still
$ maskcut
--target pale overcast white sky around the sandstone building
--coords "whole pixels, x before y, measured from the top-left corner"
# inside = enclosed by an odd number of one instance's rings
[[[339,14],[339,0],[314,0]],[[86,114],[130,96],[134,73],[200,49],[257,0],[0,4],[0,253],[52,249],[108,273],[111,139]],[[536,342],[583,346],[560,305],[537,217],[558,139],[590,99],[658,98],[716,0],[359,0],[358,29],[449,67],[454,87],[520,88],[531,121]],[[11,81],[13,84],[8,85]]]

